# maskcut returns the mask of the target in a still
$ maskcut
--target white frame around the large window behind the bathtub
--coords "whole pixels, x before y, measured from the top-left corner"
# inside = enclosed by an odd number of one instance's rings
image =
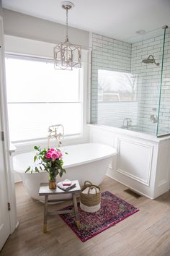
[[[53,43],[45,43],[41,41],[30,40],[26,38],[18,38],[11,35],[5,35],[5,54],[15,56],[28,56],[30,58],[48,59],[53,61]],[[86,126],[86,106],[87,106],[87,82],[88,82],[88,54],[89,51],[82,50],[82,63],[80,69],[80,102],[81,102],[81,132],[79,135],[67,136],[63,142],[64,145],[87,142],[88,131]],[[26,58],[27,59],[27,58]],[[63,72],[67,72],[63,70]],[[48,135],[48,132],[47,132]],[[55,145],[55,140],[51,144]],[[16,142],[17,153],[23,150],[31,150],[33,145],[47,145],[47,139],[27,140],[24,142]]]

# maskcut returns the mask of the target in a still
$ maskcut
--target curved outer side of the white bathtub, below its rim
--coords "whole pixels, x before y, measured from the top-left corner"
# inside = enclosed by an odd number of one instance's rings
[[[57,177],[57,181],[62,182],[64,179],[78,179],[81,186],[86,180],[93,184],[99,185],[107,173],[107,167],[109,166],[110,161],[112,161],[112,157],[93,163],[86,163],[81,166],[66,168],[66,174],[64,174],[62,178]],[[44,202],[44,200],[42,200],[42,196],[40,197],[38,195],[38,192],[40,183],[48,182],[48,173],[42,172],[40,174],[20,174],[20,176],[22,178],[24,188],[30,197]],[[71,195],[51,195],[51,199],[55,200],[56,198],[66,200],[71,199]]]

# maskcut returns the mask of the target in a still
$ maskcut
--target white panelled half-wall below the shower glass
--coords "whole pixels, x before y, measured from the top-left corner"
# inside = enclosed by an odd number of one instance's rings
[[[89,125],[89,141],[113,145],[117,159],[107,175],[141,195],[155,199],[169,190],[170,136],[163,138],[115,127]],[[135,136],[136,135],[136,136]]]

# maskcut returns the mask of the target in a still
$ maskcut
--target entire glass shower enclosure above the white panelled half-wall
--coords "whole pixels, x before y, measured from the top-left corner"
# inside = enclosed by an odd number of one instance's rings
[[[93,41],[91,123],[170,134],[169,28],[105,40]]]

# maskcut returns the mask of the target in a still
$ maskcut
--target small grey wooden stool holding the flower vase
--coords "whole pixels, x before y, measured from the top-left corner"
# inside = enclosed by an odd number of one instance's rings
[[[48,183],[41,183],[40,184],[40,189],[39,189],[39,195],[44,195],[45,196],[45,204],[44,204],[44,224],[43,224],[43,232],[47,232],[47,222],[48,222],[48,215],[54,215],[54,214],[64,214],[64,213],[75,213],[76,216],[76,226],[78,229],[81,229],[81,224],[80,224],[80,218],[79,218],[79,213],[78,213],[78,208],[77,208],[77,200],[76,200],[76,194],[79,194],[81,191],[79,181],[75,180],[72,181],[73,183],[76,183],[76,187],[69,191],[63,191],[62,189],[59,189],[59,187],[56,187],[56,189],[49,189]],[[55,213],[50,213],[48,212],[48,202],[61,202],[65,201],[68,199],[53,199],[49,200],[48,196],[50,195],[66,195],[66,194],[71,194],[72,195],[72,200],[73,200],[73,210],[56,210]]]

